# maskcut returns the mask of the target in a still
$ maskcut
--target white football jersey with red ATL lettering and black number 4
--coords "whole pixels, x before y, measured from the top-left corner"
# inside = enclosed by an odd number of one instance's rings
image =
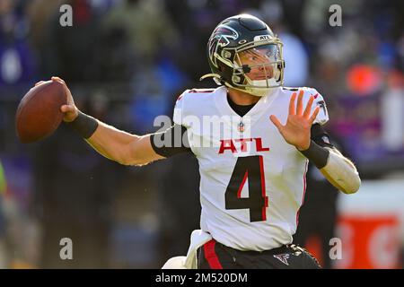
[[[312,88],[315,123],[329,117],[323,98]],[[289,100],[297,89],[277,88],[240,117],[224,86],[187,90],[177,100],[173,120],[188,129],[199,162],[201,229],[225,246],[263,251],[292,243],[303,204],[308,160],[285,142],[270,121],[285,125]],[[297,99],[297,98],[296,98]],[[297,102],[297,100],[296,100]]]

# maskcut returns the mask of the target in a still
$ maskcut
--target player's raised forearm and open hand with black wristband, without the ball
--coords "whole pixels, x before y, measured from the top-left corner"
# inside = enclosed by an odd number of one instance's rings
[[[274,115],[270,117],[271,121],[277,126],[285,141],[294,145],[312,161],[334,187],[346,194],[356,193],[361,185],[361,179],[355,164],[331,144],[321,146],[312,140],[312,125],[322,107],[319,105],[312,111],[314,97],[311,96],[303,110],[303,93],[303,91],[299,92],[296,105],[294,104],[296,93],[292,95],[285,126]]]

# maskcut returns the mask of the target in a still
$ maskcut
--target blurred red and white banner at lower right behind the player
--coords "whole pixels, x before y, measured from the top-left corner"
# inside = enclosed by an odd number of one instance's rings
[[[338,268],[402,268],[404,180],[365,180],[356,196],[340,196]]]

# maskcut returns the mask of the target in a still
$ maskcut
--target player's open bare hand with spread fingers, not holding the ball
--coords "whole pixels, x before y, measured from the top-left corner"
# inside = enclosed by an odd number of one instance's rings
[[[310,130],[312,128],[312,123],[314,119],[319,114],[320,107],[316,107],[311,114],[312,111],[312,102],[314,97],[311,96],[310,100],[307,102],[306,108],[303,111],[303,94],[304,91],[299,92],[299,96],[297,97],[297,106],[294,106],[294,100],[296,100],[296,93],[292,94],[292,97],[289,101],[289,115],[287,117],[287,121],[285,126],[283,126],[276,116],[271,115],[270,119],[277,129],[281,133],[281,135],[285,138],[285,141],[289,144],[292,144],[299,151],[307,150],[310,146]]]

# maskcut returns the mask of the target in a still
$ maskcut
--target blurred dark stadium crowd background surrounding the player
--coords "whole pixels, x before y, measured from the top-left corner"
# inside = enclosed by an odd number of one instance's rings
[[[61,4],[73,27],[61,27]],[[329,6],[342,26],[329,25]],[[404,2],[375,0],[0,0],[0,267],[159,268],[184,255],[198,229],[198,162],[182,155],[127,168],[65,126],[23,145],[16,107],[31,86],[66,80],[80,109],[127,131],[208,72],[215,25],[252,13],[285,44],[285,85],[327,100],[327,129],[363,186],[338,195],[316,170],[296,240],[332,268],[402,268],[404,246]],[[3,168],[1,168],[1,166]],[[62,261],[59,241],[73,240]],[[329,239],[342,259],[329,260]]]

